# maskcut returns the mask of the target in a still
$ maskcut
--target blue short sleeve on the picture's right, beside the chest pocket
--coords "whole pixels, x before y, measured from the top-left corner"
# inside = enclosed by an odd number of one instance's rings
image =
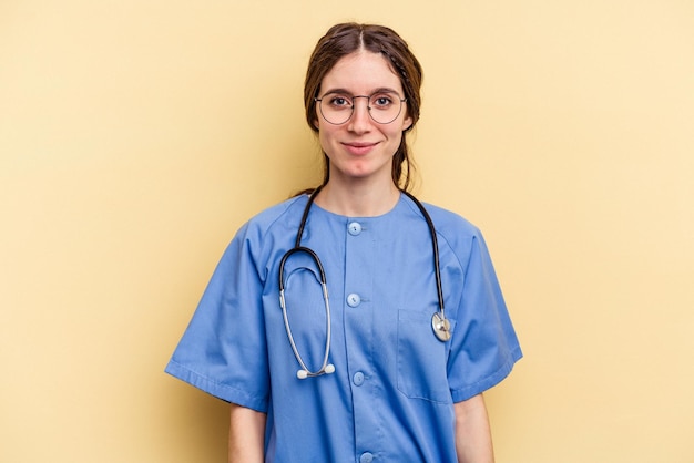
[[[491,257],[479,230],[468,240],[462,296],[456,312],[448,362],[455,402],[477,395],[503,380],[522,357],[521,348]]]

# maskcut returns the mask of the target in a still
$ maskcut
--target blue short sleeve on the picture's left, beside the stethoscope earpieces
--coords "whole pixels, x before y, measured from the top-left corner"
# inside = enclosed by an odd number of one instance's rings
[[[165,371],[227,402],[267,412],[263,272],[244,226],[222,256]]]

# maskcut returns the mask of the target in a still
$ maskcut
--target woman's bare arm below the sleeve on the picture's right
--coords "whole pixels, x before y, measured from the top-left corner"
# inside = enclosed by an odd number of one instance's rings
[[[456,452],[459,463],[493,463],[491,429],[482,394],[453,405],[456,411]]]

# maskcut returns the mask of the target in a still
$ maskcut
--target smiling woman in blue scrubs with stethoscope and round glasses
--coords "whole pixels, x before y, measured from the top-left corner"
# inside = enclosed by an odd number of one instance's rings
[[[391,29],[318,41],[323,184],[237,232],[166,367],[231,403],[229,462],[493,461],[482,393],[521,350],[479,229],[406,194],[421,79]]]

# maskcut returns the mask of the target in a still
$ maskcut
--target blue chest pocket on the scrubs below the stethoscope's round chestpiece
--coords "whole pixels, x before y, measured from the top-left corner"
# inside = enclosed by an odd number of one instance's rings
[[[398,390],[410,399],[451,403],[448,385],[448,342],[431,328],[431,312],[398,311]],[[456,321],[449,319],[451,330]]]

